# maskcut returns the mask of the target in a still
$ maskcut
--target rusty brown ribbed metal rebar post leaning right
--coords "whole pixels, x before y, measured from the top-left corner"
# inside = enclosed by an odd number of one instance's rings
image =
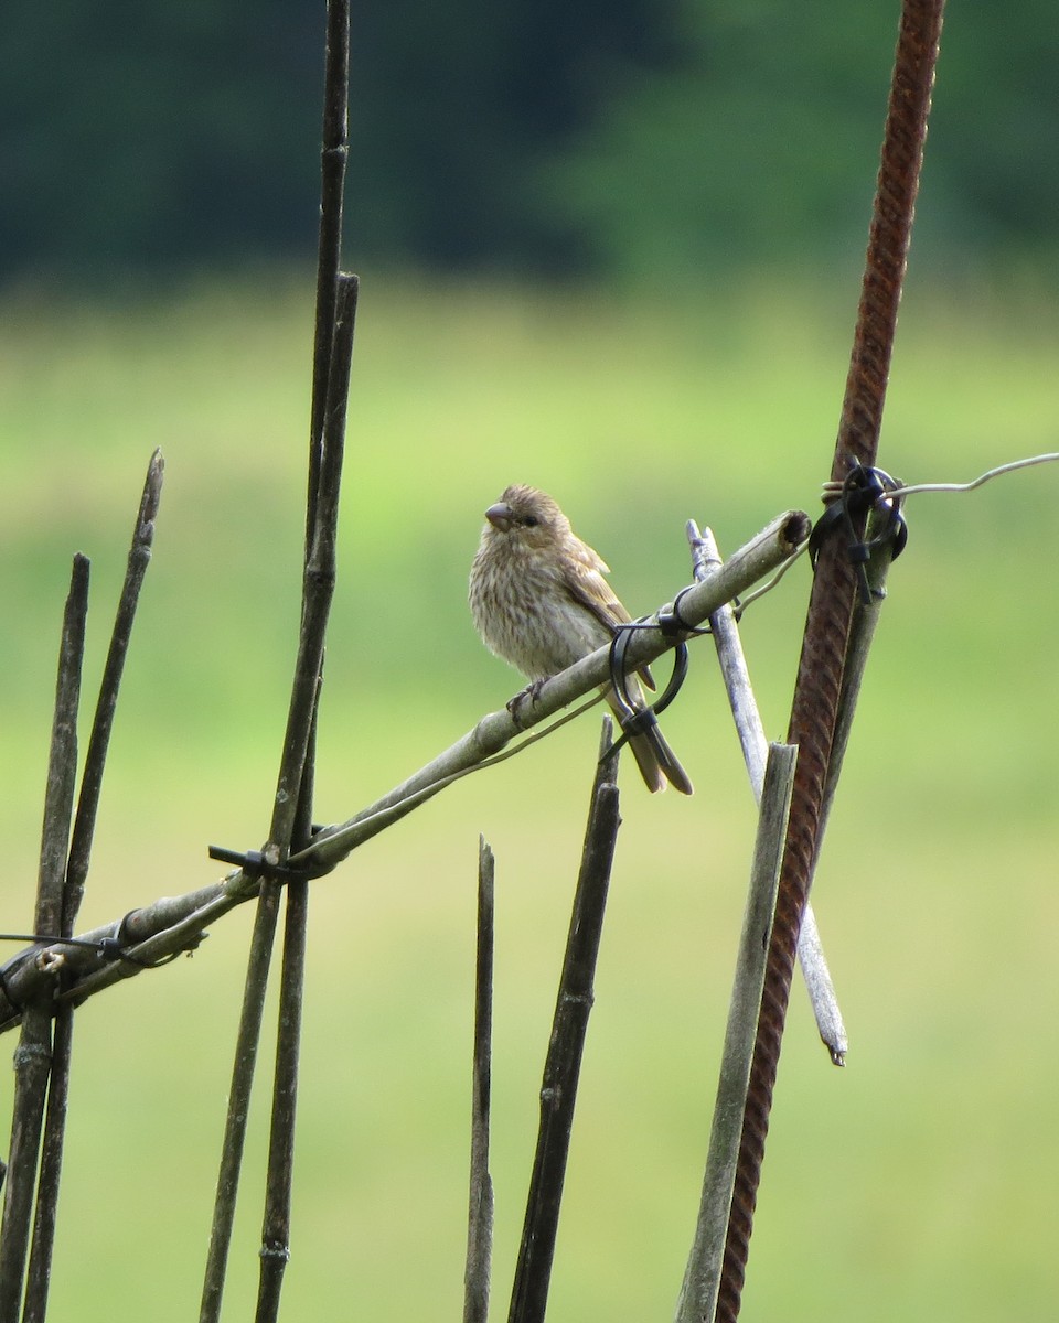
[[[903,5],[860,306],[831,468],[837,482],[846,478],[854,459],[875,463],[943,8],[944,0],[904,0]],[[817,561],[792,705],[788,741],[798,745],[798,767],[743,1121],[717,1323],[735,1323],[739,1318],[798,930],[815,864],[855,591],[852,565],[845,546],[833,537]]]

